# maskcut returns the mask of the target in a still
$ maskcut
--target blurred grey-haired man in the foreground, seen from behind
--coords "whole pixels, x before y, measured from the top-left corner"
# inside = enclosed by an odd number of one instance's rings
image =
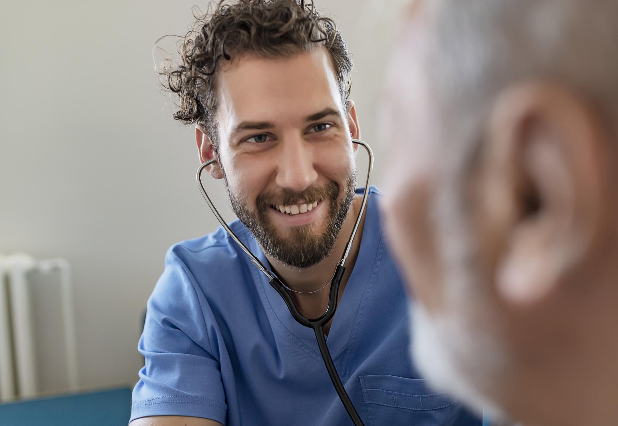
[[[428,0],[384,94],[387,232],[439,390],[618,425],[618,2]]]

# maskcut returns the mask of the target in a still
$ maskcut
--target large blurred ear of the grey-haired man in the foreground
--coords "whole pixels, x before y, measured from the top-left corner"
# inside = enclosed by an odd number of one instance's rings
[[[528,304],[559,290],[601,222],[607,139],[593,109],[567,88],[524,83],[489,113],[480,201],[494,244],[496,291]]]

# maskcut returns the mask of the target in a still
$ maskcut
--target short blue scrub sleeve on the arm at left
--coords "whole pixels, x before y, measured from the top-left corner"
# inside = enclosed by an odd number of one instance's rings
[[[195,279],[174,254],[148,299],[138,349],[145,357],[133,388],[131,419],[190,416],[224,424],[226,399],[209,332],[214,324]],[[201,294],[198,296],[198,294]]]

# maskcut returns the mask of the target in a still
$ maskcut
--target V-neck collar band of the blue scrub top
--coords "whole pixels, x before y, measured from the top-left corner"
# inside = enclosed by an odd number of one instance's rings
[[[364,188],[358,188],[356,193],[362,194]],[[337,364],[341,362],[344,356],[344,351],[350,341],[355,320],[358,314],[362,314],[360,302],[363,299],[363,294],[368,286],[371,272],[375,268],[375,260],[380,247],[382,227],[379,220],[379,212],[377,199],[375,194],[379,194],[379,190],[375,186],[370,187],[370,196],[365,213],[365,223],[363,224],[362,240],[360,249],[358,250],[357,260],[353,265],[352,274],[344,288],[341,301],[337,306],[337,311],[332,319],[331,329],[329,330],[326,339],[333,361]],[[250,244],[250,249],[256,257],[265,265],[268,265],[266,256],[260,249],[259,244],[252,238],[250,233],[244,235]],[[316,342],[315,334],[311,328],[305,327],[292,317],[286,303],[283,301],[279,293],[270,285],[266,276],[260,272],[255,266],[250,265],[253,271],[253,277],[256,278],[256,285],[263,288],[266,296],[265,304],[268,304],[275,316],[274,320],[279,321],[283,327],[290,333],[292,340],[297,339],[302,342],[307,349],[318,355],[321,360],[320,349]],[[268,310],[268,306],[267,310]],[[299,343],[299,342],[295,342]],[[339,361],[339,362],[338,362]]]

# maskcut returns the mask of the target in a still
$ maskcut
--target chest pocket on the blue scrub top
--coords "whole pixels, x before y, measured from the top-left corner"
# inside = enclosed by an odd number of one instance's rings
[[[457,417],[455,400],[431,391],[425,379],[364,375],[360,384],[368,426],[446,426]]]

